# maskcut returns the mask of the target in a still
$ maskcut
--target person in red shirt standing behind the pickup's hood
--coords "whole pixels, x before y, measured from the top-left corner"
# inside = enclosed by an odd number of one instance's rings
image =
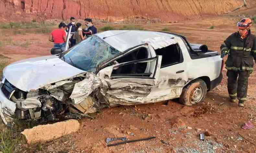
[[[54,47],[60,47],[62,51],[65,50],[65,42],[67,39],[66,33],[64,28],[66,27],[66,24],[60,23],[59,29],[55,29],[51,32],[51,35],[49,36],[49,41],[54,42]]]

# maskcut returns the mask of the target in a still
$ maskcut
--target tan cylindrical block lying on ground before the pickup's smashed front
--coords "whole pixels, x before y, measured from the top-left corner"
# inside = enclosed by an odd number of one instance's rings
[[[49,142],[65,135],[77,132],[80,124],[75,119],[69,119],[63,122],[57,122],[54,124],[39,125],[31,129],[25,129],[23,134],[27,143],[35,144],[39,142]]]

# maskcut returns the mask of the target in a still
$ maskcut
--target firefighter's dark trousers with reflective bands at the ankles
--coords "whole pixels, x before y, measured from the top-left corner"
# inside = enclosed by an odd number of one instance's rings
[[[227,90],[230,98],[246,100],[250,73],[250,71],[227,70]]]

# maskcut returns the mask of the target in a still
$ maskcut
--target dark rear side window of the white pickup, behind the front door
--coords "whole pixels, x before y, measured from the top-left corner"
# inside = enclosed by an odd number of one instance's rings
[[[183,62],[182,52],[178,44],[156,49],[155,52],[162,56],[161,68]]]

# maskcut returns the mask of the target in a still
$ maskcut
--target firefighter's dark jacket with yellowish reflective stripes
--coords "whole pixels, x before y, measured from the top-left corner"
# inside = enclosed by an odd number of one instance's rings
[[[226,69],[234,71],[252,71],[253,58],[256,62],[256,37],[248,33],[241,39],[239,32],[230,35],[220,46],[221,53],[228,54]]]

